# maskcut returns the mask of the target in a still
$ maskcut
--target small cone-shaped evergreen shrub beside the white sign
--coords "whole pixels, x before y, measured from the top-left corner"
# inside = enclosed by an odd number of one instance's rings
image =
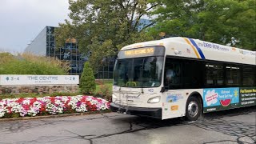
[[[93,94],[96,88],[94,72],[89,62],[85,62],[79,83],[82,94]]]

